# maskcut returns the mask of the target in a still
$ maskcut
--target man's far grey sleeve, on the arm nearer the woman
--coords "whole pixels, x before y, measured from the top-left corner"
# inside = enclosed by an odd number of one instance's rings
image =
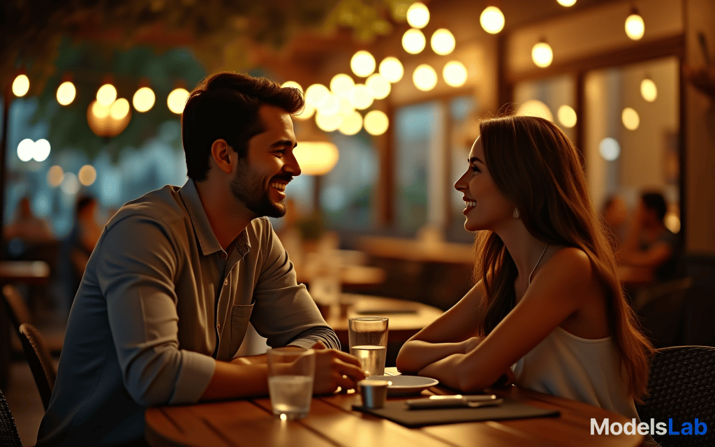
[[[285,248],[265,220],[261,250],[266,250],[253,298],[251,323],[272,347],[310,348],[322,342],[340,349],[335,330],[325,323],[305,285],[297,284],[295,268]]]

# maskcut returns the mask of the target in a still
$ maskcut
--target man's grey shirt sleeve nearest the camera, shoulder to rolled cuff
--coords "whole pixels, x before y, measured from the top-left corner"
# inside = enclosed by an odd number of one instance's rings
[[[179,349],[176,238],[159,222],[134,215],[108,228],[100,244],[99,287],[124,386],[142,406],[197,402],[215,360]]]

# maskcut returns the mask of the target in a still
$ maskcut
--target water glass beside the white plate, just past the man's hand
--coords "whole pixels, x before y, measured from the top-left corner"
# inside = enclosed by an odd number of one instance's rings
[[[388,350],[388,318],[348,318],[350,354],[363,365],[365,376],[383,375]]]

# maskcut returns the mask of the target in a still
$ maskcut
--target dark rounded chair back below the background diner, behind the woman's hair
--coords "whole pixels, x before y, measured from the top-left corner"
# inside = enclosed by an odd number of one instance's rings
[[[686,295],[692,285],[692,278],[684,277],[653,285],[636,295],[633,310],[656,348],[682,344]]]

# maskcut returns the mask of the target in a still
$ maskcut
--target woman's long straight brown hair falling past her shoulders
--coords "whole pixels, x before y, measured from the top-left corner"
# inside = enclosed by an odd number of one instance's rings
[[[485,164],[494,184],[516,205],[533,237],[550,245],[578,247],[591,259],[608,299],[608,326],[621,359],[621,375],[637,402],[647,395],[653,346],[638,330],[623,296],[616,260],[586,186],[576,147],[555,124],[536,117],[480,122]],[[484,280],[479,329],[487,335],[514,308],[517,270],[496,233],[478,234],[475,278]]]

